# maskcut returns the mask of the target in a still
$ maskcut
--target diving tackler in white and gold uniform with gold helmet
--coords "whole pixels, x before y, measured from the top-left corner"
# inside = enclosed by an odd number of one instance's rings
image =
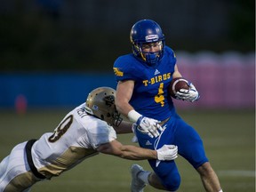
[[[15,146],[0,164],[0,191],[29,191],[37,181],[59,176],[99,152],[131,160],[175,159],[178,148],[173,145],[151,150],[116,140],[116,132],[132,132],[132,124],[122,121],[115,96],[112,88],[97,88],[85,103],[64,117],[54,132]]]

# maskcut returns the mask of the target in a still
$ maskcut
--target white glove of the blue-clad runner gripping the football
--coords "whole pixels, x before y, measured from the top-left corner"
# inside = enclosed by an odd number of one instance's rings
[[[188,83],[189,89],[180,89],[179,92],[176,92],[175,96],[178,100],[188,100],[190,102],[194,102],[199,100],[200,95],[196,91],[196,87],[192,83]]]

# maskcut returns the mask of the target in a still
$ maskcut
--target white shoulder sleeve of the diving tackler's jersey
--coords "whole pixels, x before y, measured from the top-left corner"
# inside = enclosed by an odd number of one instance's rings
[[[88,129],[87,135],[94,149],[98,148],[101,144],[116,140],[116,132],[112,126],[103,121],[98,123],[97,127]]]

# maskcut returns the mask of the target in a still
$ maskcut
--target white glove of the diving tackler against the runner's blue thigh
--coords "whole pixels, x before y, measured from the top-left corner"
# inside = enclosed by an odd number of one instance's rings
[[[164,145],[157,150],[157,159],[160,161],[170,161],[178,157],[178,146]]]

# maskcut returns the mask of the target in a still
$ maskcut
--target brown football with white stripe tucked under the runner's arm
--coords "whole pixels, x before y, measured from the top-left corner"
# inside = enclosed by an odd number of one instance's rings
[[[188,80],[183,77],[173,78],[168,87],[168,92],[172,98],[176,98],[176,92],[179,92],[180,89],[189,89]]]

